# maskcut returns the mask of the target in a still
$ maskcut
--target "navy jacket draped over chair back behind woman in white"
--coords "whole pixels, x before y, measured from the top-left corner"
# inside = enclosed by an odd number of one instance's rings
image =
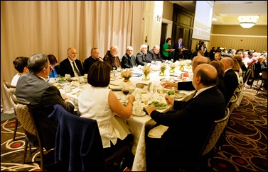
[[[58,121],[55,141],[56,163],[68,165],[66,171],[104,171],[105,162],[96,120],[68,113],[54,105],[48,116]]]

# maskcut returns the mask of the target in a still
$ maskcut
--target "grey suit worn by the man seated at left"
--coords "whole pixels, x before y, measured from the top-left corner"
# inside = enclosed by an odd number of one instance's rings
[[[55,147],[55,132],[58,122],[48,119],[53,111],[53,105],[62,105],[65,110],[73,113],[72,103],[65,102],[60,96],[58,88],[44,81],[34,74],[23,74],[16,85],[16,97],[21,101],[28,101],[33,108],[33,118],[41,134],[45,149]]]

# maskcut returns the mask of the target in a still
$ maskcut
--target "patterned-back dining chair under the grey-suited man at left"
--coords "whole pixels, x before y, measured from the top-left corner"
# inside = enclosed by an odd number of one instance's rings
[[[18,117],[18,120],[21,123],[21,126],[24,129],[24,133],[25,133],[25,147],[24,147],[24,154],[23,154],[23,162],[22,164],[25,164],[25,160],[26,160],[26,154],[27,154],[27,149],[28,149],[28,144],[29,144],[29,148],[30,148],[30,154],[32,154],[34,151],[39,150],[40,152],[40,158],[41,158],[41,171],[43,171],[43,144],[41,142],[41,137],[40,134],[36,128],[36,124],[33,120],[33,111],[31,108],[31,104],[29,102],[26,101],[20,101],[18,100],[14,93],[11,93],[11,103],[14,106],[14,110],[16,112],[16,115]],[[37,142],[31,142],[28,137],[36,137]],[[33,147],[38,147],[38,149],[31,151],[31,146]]]

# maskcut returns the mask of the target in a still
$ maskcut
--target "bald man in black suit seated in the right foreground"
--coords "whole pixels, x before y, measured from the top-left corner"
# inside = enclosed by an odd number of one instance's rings
[[[168,126],[160,139],[146,137],[147,171],[178,171],[198,158],[214,121],[225,115],[225,99],[216,84],[218,74],[210,64],[199,64],[193,71],[197,91],[187,102],[166,96],[174,110],[160,113],[154,105],[146,112],[158,125]],[[178,111],[177,111],[178,110]]]

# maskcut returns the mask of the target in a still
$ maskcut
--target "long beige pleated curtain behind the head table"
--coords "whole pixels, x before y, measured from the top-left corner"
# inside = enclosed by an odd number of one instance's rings
[[[109,47],[127,46],[134,55],[142,44],[143,1],[1,1],[1,79],[9,83],[17,73],[18,56],[53,54],[61,62],[68,47],[77,49],[82,62],[92,47],[104,57]],[[5,110],[5,99],[1,104]]]

